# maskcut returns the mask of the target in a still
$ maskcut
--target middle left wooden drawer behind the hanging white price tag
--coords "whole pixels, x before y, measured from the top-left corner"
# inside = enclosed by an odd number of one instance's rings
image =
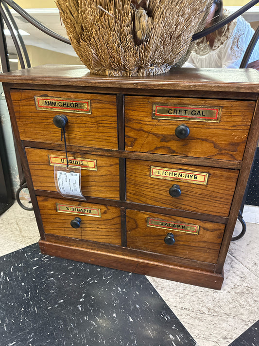
[[[66,161],[66,153],[55,150],[26,148],[26,155],[35,190],[56,191],[54,166],[50,161]],[[91,197],[120,199],[119,159],[100,155],[88,155],[68,152],[71,164],[95,165],[96,170],[81,169],[81,190],[83,195]],[[85,161],[83,161],[85,160]]]

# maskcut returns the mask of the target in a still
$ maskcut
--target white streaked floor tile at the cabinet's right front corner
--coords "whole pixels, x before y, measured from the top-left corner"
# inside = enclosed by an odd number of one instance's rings
[[[221,291],[148,277],[199,346],[228,346],[259,319],[259,226],[230,244]]]

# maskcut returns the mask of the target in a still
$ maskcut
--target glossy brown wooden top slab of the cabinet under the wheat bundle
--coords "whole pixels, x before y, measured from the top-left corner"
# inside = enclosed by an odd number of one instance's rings
[[[259,92],[259,72],[253,69],[175,68],[146,77],[107,77],[89,73],[83,65],[42,65],[0,74],[12,84],[90,86],[97,88]],[[26,86],[24,86],[26,88]]]

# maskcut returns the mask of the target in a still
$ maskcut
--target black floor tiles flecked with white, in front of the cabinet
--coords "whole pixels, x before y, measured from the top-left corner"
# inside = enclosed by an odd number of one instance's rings
[[[143,275],[42,255],[0,257],[0,346],[197,346]],[[259,322],[229,346],[258,346]]]

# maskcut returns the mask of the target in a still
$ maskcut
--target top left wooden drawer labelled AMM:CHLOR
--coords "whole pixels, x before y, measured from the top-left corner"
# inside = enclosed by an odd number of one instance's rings
[[[35,96],[52,98],[48,109],[36,109]],[[118,149],[116,96],[56,91],[11,90],[21,140],[64,143],[60,141],[61,129],[53,124],[57,114],[66,115],[66,139],[69,145]],[[71,112],[66,107],[58,108],[58,100],[89,101],[91,114]],[[64,101],[63,101],[64,100]],[[51,103],[52,102],[52,103]],[[70,103],[69,103],[70,102]]]

